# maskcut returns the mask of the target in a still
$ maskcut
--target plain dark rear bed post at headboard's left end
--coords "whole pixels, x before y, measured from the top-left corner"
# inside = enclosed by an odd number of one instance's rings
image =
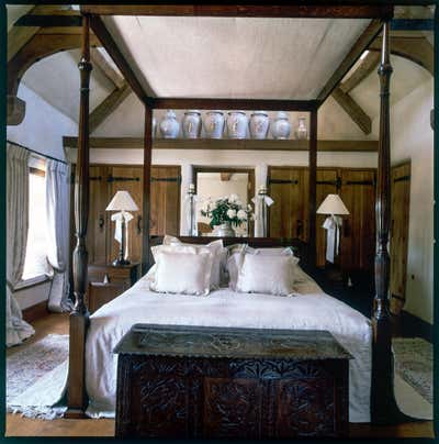
[[[143,202],[143,245],[142,275],[149,269],[149,218],[150,218],[150,177],[153,155],[153,108],[145,103],[145,134],[144,134],[144,202]]]

